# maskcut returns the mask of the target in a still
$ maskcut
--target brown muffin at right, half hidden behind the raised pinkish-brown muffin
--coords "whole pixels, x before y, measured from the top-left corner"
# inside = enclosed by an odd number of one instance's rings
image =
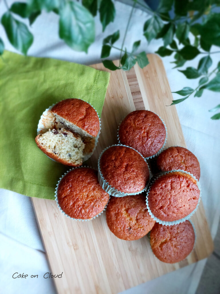
[[[200,166],[196,156],[183,147],[169,147],[164,150],[156,161],[159,171],[172,171],[181,169],[192,173],[198,180],[200,178]]]

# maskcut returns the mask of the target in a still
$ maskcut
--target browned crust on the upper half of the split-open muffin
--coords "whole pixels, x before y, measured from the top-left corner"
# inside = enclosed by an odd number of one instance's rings
[[[99,117],[95,109],[87,102],[70,98],[58,102],[51,111],[70,123],[96,137],[99,133]]]

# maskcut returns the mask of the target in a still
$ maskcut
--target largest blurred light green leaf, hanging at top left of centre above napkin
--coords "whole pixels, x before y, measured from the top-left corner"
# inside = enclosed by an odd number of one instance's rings
[[[76,51],[88,51],[95,40],[92,14],[77,2],[67,2],[60,9],[59,36]]]

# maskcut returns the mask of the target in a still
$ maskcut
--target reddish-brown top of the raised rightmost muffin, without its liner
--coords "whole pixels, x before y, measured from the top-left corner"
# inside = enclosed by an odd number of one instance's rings
[[[160,220],[179,220],[196,208],[199,194],[197,182],[192,176],[182,172],[167,173],[150,187],[148,206]]]

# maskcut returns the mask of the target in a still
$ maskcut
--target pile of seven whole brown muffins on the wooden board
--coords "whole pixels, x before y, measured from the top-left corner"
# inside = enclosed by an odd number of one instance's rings
[[[87,103],[86,107],[92,106]],[[93,115],[90,119],[97,121],[97,113],[89,113]],[[62,112],[62,117],[67,116]],[[79,126],[82,121],[70,115],[66,119],[69,123],[65,125],[64,121],[63,127],[70,132],[70,123]],[[80,124],[83,131],[87,131],[86,127]],[[83,141],[82,131],[77,130]],[[98,173],[80,167],[60,178],[56,188],[58,207],[78,220],[97,217],[106,208],[107,225],[118,238],[138,240],[150,232],[150,245],[159,260],[166,263],[183,260],[195,241],[194,228],[188,219],[200,199],[197,158],[182,147],[164,150],[166,126],[151,111],[129,113],[119,126],[118,138],[118,145],[100,154]],[[153,167],[154,176],[148,164]]]

